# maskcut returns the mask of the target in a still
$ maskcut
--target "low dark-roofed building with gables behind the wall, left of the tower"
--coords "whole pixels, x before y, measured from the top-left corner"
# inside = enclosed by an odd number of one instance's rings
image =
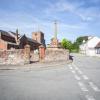
[[[20,36],[18,30],[16,32],[6,32],[0,30],[0,50],[23,49],[26,44],[29,44],[31,50],[38,49],[41,45],[40,42],[29,38],[25,35]]]

